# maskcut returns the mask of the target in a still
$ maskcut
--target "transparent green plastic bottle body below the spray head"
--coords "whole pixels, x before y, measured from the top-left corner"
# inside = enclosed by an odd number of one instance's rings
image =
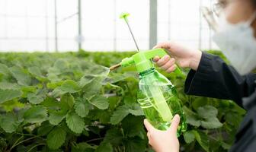
[[[155,68],[139,73],[139,90],[137,100],[146,116],[146,119],[159,130],[166,130],[171,125],[175,114],[181,117],[178,126],[178,136],[186,131],[187,124],[181,108],[181,100],[171,81],[158,73]]]

